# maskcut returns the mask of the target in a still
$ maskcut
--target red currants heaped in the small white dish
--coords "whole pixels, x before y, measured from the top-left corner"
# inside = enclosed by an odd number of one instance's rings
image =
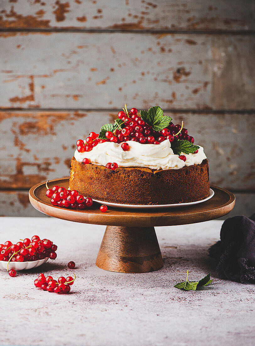
[[[41,240],[38,236],[33,236],[31,240],[26,238],[17,244],[12,244],[8,240],[0,244],[0,261],[31,262],[43,260],[46,257],[55,260],[57,248],[57,245],[49,239]]]

